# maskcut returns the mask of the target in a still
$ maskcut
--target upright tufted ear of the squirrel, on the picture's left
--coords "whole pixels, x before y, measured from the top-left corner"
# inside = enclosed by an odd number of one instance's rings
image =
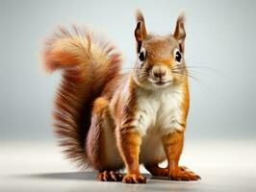
[[[134,32],[134,35],[137,40],[138,50],[141,49],[141,42],[147,36],[146,29],[145,29],[145,21],[142,12],[139,10],[136,15],[137,26]]]

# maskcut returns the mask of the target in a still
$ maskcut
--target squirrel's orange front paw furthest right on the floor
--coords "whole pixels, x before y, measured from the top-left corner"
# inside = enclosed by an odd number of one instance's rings
[[[176,171],[169,172],[168,178],[169,180],[201,180],[200,176],[185,166],[179,167]]]

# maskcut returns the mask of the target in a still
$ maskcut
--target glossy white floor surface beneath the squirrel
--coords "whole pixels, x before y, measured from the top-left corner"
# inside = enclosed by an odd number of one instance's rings
[[[60,151],[51,141],[1,141],[0,192],[256,191],[256,140],[252,139],[186,141],[181,164],[200,175],[199,181],[154,179],[141,166],[146,184],[101,182],[95,173],[79,172]]]

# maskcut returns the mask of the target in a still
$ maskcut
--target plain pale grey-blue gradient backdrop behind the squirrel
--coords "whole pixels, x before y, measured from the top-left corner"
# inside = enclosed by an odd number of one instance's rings
[[[187,11],[186,59],[193,66],[187,137],[255,138],[256,1],[0,0],[0,139],[53,138],[51,110],[60,74],[39,71],[44,37],[59,24],[92,26],[135,60],[134,13],[148,31],[173,32]]]

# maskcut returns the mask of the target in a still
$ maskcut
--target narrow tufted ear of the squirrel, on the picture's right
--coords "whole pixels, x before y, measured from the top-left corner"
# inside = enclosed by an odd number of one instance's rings
[[[185,14],[184,12],[181,12],[178,16],[178,19],[176,21],[176,28],[173,36],[177,39],[181,52],[184,52],[185,49],[185,37],[186,37],[186,31],[184,28],[185,23]]]

